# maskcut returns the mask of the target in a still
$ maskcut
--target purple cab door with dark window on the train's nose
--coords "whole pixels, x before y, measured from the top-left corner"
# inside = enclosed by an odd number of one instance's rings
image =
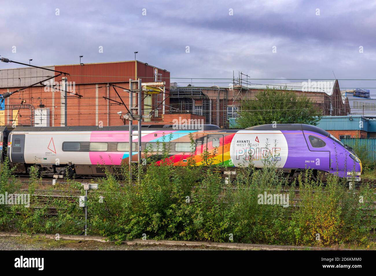
[[[306,156],[305,160],[307,168],[331,169],[330,145],[327,144],[330,140],[314,133],[303,133],[310,151],[309,156]]]

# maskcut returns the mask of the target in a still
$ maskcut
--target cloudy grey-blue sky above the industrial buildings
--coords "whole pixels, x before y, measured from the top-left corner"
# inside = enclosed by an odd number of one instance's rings
[[[352,79],[341,89],[376,87],[353,80],[376,79],[376,1],[8,1],[0,28],[0,55],[40,66],[79,63],[79,55],[84,63],[133,60],[138,51],[137,60],[172,78],[231,79],[234,71],[277,83],[335,74]]]

